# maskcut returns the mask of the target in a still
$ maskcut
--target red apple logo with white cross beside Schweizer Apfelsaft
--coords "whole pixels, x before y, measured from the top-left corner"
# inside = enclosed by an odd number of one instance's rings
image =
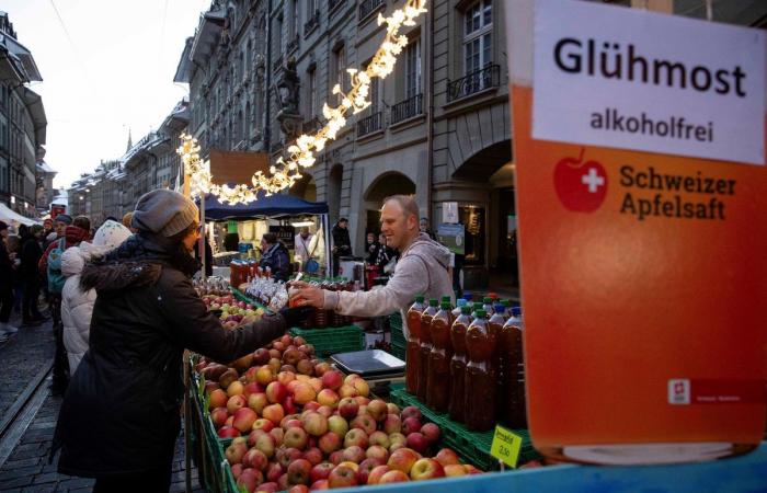
[[[554,190],[568,210],[593,213],[607,196],[607,173],[596,161],[583,162],[585,148],[577,158],[563,158],[554,169]]]

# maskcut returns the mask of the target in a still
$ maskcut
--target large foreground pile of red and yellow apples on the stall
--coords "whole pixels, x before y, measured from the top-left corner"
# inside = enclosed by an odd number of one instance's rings
[[[214,426],[233,438],[225,452],[232,474],[249,493],[481,472],[450,449],[432,456],[442,434],[436,424],[422,424],[417,408],[370,400],[365,379],[344,378],[313,358],[301,337],[285,335],[251,358],[255,366],[242,376],[215,363],[197,366]]]

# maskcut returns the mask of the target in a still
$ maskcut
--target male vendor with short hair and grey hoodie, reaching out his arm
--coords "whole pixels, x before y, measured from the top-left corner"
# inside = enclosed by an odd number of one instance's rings
[[[412,197],[394,195],[384,200],[381,232],[387,244],[401,252],[386,286],[369,291],[329,291],[299,283],[295,300],[351,317],[380,317],[397,310],[404,313],[419,294],[453,298],[450,252],[419,230],[419,207]]]

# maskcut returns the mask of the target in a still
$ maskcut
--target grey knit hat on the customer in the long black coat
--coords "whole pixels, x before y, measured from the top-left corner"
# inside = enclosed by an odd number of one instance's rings
[[[194,202],[179,192],[160,188],[138,199],[130,226],[168,238],[188,228],[198,216]]]

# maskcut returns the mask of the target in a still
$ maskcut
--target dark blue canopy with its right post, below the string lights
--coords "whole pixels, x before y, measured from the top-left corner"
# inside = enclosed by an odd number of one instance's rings
[[[257,199],[250,204],[229,205],[218,200],[215,195],[207,194],[203,200],[203,221],[267,219],[289,216],[320,216],[322,236],[325,246],[325,268],[330,272],[330,222],[328,204],[308,202],[293,195],[270,195],[259,192]],[[197,199],[199,205],[199,199]]]

